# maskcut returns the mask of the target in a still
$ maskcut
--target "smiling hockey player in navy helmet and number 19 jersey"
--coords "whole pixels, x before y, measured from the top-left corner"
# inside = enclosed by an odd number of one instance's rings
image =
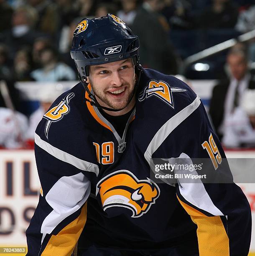
[[[76,247],[82,256],[248,254],[251,212],[240,187],[152,179],[154,158],[208,158],[212,174],[229,169],[199,97],[181,80],[143,69],[138,48],[115,15],[85,18],[74,31],[81,82],[36,129],[41,195],[27,255]]]

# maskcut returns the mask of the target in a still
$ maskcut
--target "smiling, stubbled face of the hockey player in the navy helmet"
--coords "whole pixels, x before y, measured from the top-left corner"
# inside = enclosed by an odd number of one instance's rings
[[[88,81],[100,105],[113,109],[134,105],[134,97],[128,104],[135,87],[132,59],[90,66]]]

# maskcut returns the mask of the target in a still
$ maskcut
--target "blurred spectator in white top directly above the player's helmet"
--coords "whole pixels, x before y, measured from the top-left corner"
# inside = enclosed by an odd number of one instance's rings
[[[131,26],[135,19],[137,0],[121,0],[122,9],[117,12],[117,16],[125,21],[127,26]]]

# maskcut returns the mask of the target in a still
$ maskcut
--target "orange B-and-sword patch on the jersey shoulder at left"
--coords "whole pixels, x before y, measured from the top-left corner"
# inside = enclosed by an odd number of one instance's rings
[[[48,138],[48,130],[52,122],[59,121],[64,115],[69,113],[70,107],[68,105],[69,100],[74,97],[74,93],[71,92],[66,97],[64,97],[58,105],[48,110],[44,115],[43,118],[48,119],[46,126],[45,126],[45,135]]]

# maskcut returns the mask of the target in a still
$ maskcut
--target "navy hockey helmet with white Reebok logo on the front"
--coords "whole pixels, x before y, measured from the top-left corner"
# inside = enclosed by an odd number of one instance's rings
[[[71,46],[81,79],[89,76],[89,66],[132,57],[139,68],[139,39],[118,17],[84,18],[76,27]]]

